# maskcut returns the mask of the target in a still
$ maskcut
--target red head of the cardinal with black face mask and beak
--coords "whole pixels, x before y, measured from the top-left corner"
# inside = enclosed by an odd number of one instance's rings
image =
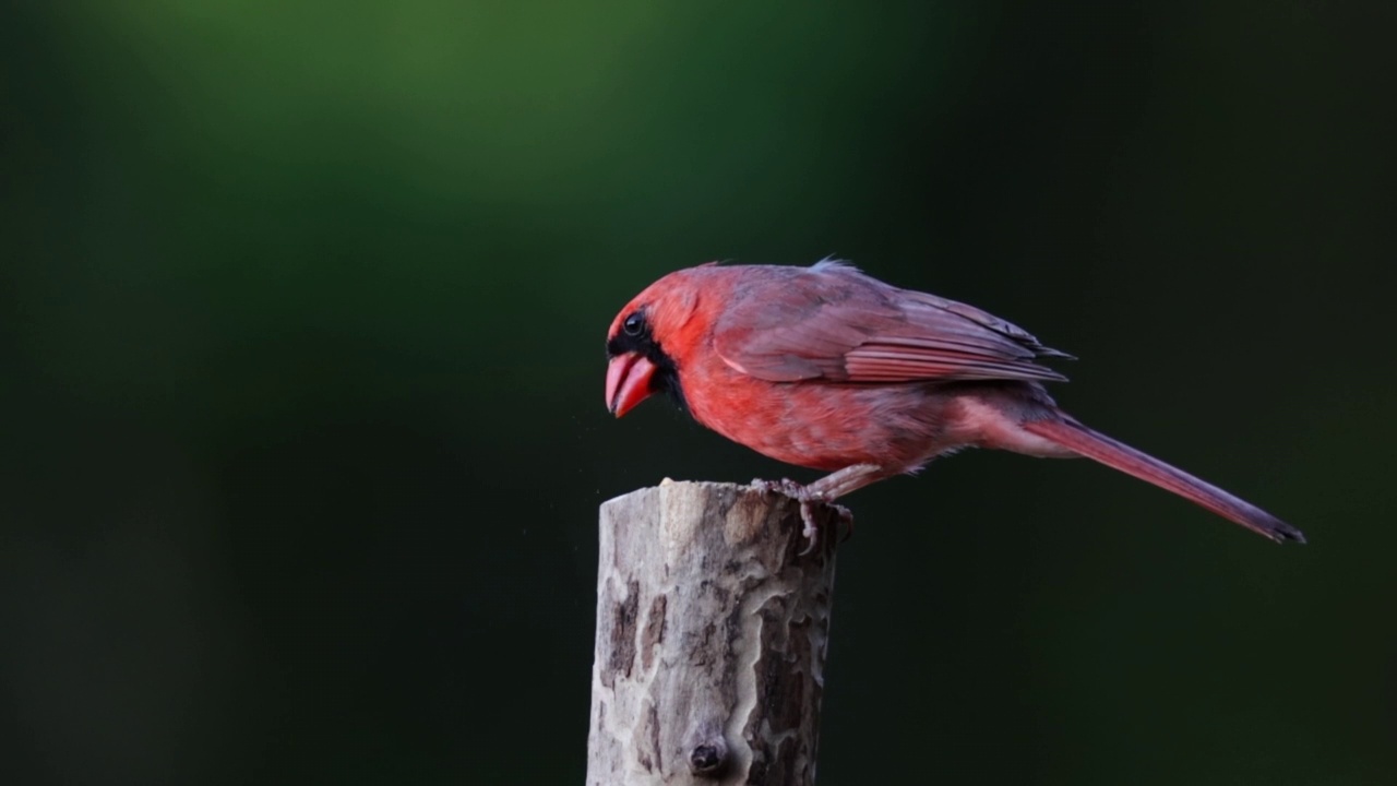
[[[622,417],[654,393],[683,406],[679,369],[704,331],[700,271],[665,276],[620,309],[606,331],[606,408]]]

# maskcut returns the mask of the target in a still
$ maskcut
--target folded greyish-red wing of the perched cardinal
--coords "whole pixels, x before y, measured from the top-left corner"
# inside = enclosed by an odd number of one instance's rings
[[[752,270],[714,324],[714,348],[757,379],[1066,379],[1034,361],[1070,355],[974,306],[837,262]]]

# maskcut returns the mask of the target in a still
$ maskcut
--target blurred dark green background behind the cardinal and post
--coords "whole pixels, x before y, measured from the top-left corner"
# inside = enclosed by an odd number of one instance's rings
[[[610,420],[605,329],[837,253],[1312,545],[1085,462],[862,491],[821,783],[1397,782],[1394,22],[6,4],[0,779],[580,783],[598,503],[789,473]]]

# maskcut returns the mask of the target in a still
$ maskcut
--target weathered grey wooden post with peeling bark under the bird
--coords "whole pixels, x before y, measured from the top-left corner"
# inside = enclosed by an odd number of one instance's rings
[[[588,786],[814,783],[833,509],[673,483],[601,509]]]

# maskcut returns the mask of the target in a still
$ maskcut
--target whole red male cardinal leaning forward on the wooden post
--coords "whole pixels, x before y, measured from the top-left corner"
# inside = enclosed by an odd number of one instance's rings
[[[1183,470],[1083,425],[1044,382],[1069,358],[974,306],[900,290],[837,260],[703,264],[636,295],[606,333],[606,407],[665,392],[700,424],[788,464],[828,470],[767,484],[813,503],[914,473],[961,448],[1085,456],[1277,543],[1299,530]]]

